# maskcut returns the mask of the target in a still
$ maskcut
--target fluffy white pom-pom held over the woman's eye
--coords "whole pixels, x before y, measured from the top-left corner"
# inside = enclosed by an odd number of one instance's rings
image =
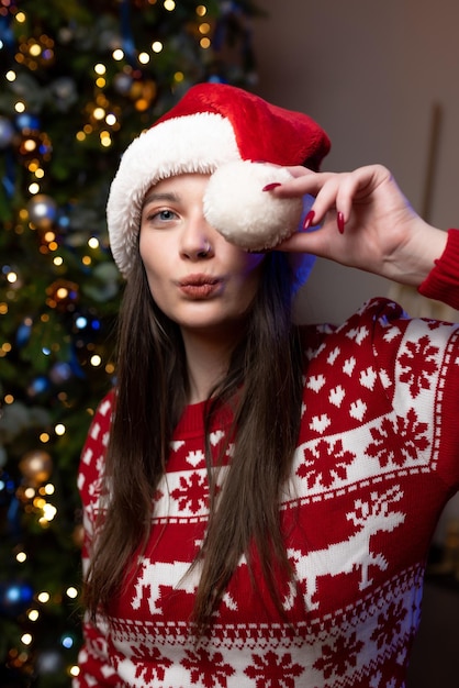
[[[204,195],[208,222],[228,242],[247,251],[272,248],[299,226],[301,198],[277,198],[264,191],[292,176],[283,167],[237,160],[222,165],[209,180]]]

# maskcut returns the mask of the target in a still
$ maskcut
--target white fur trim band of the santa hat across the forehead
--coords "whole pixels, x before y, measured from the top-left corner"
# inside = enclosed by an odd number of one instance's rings
[[[154,184],[184,173],[212,174],[238,159],[233,127],[216,113],[167,120],[135,138],[121,159],[107,206],[110,245],[121,273],[131,270],[142,206]]]

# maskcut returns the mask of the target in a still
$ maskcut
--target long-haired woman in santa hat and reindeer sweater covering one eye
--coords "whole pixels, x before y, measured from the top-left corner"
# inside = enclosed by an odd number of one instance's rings
[[[123,156],[108,219],[126,288],[79,476],[75,687],[404,686],[459,481],[458,330],[385,299],[340,328],[296,326],[290,307],[314,254],[458,308],[459,232],[426,224],[381,166],[312,171],[327,149],[305,115],[208,84]],[[306,231],[267,252],[226,241],[204,209],[234,160],[268,163],[249,165],[271,175],[268,207],[313,196]]]

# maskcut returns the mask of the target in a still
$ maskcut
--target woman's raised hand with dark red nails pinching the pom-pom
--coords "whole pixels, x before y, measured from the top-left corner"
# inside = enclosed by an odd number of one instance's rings
[[[294,179],[267,192],[310,193],[315,201],[305,230],[277,249],[312,253],[413,286],[427,277],[447,234],[414,212],[385,167],[371,165],[340,174],[288,169]],[[314,231],[307,231],[310,226]]]

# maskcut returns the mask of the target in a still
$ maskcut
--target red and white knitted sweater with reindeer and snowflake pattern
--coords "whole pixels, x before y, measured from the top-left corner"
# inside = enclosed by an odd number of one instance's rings
[[[459,306],[459,232],[423,292]],[[155,498],[152,545],[109,622],[85,625],[75,688],[402,688],[437,518],[459,486],[459,326],[376,299],[338,329],[305,329],[302,425],[280,514],[295,585],[290,624],[240,562],[208,642],[189,637],[208,511],[202,404],[186,409]],[[79,488],[87,557],[111,400]],[[212,429],[217,447],[227,428]],[[128,469],[126,467],[126,469]],[[122,515],[120,514],[120,518]],[[155,546],[153,545],[155,543]]]

